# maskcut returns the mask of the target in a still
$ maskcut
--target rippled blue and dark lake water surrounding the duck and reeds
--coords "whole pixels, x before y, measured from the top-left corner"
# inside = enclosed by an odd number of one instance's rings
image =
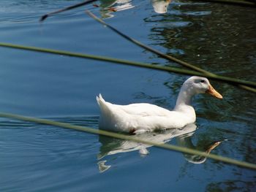
[[[85,14],[146,45],[229,77],[255,81],[255,9],[196,1],[97,1],[39,23],[80,1],[0,3],[0,42],[179,66],[148,53]],[[158,4],[157,4],[158,3]],[[115,7],[117,12],[109,8]],[[1,112],[98,128],[95,97],[172,108],[187,76],[0,47]],[[255,94],[211,81],[223,100],[194,99],[197,121],[143,138],[256,162]],[[0,119],[0,191],[256,191],[255,171],[118,139]],[[148,155],[142,152],[148,150]]]

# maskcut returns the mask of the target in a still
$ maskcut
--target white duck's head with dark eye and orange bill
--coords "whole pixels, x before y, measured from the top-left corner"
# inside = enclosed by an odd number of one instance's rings
[[[211,83],[205,77],[190,77],[184,82],[182,89],[186,90],[190,95],[209,93],[218,99],[222,99],[222,95],[211,86]]]

